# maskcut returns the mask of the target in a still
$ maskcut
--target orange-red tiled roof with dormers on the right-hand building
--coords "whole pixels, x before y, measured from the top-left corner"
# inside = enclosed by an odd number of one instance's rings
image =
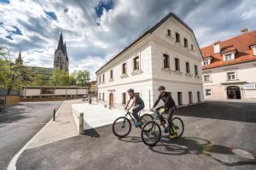
[[[256,60],[256,56],[253,55],[251,45],[256,43],[256,31],[250,31],[243,33],[240,36],[232,37],[230,39],[220,42],[220,53],[214,54],[213,44],[205,48],[201,48],[201,53],[204,58],[208,56],[212,57],[210,65],[203,65],[202,69],[209,69],[224,65],[234,65],[247,61]],[[230,61],[223,60],[223,53],[236,50],[236,59]]]

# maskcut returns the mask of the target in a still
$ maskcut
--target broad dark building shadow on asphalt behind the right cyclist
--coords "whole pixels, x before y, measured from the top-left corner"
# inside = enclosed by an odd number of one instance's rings
[[[223,119],[238,122],[256,122],[255,103],[207,101],[205,104],[178,109],[175,115]]]

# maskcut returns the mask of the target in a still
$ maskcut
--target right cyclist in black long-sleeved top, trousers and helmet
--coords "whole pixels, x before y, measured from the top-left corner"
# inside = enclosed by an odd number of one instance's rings
[[[167,113],[167,127],[166,127],[166,133],[170,132],[170,126],[172,125],[172,114],[174,112],[174,109],[176,108],[175,102],[172,99],[172,95],[170,92],[166,92],[166,88],[164,86],[160,86],[158,88],[160,95],[158,97],[158,99],[154,102],[153,108],[150,109],[150,111],[154,111],[154,107],[159,103],[160,99],[163,100],[163,102],[165,103],[163,107],[160,108],[164,108],[165,112]],[[160,109],[158,108],[158,110]],[[175,134],[171,134],[171,138],[172,135]]]

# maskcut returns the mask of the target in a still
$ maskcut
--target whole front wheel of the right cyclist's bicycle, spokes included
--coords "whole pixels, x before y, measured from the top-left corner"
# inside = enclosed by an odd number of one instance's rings
[[[144,144],[154,146],[161,138],[161,128],[159,124],[154,121],[147,122],[143,126],[141,136]]]

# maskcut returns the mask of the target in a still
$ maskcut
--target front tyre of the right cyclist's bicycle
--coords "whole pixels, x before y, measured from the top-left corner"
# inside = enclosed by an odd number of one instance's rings
[[[149,127],[150,129],[146,129]],[[158,137],[156,137],[156,139],[154,140],[154,142],[152,143],[149,143],[147,139],[145,139],[144,135],[148,136],[146,133],[151,133],[149,131],[152,131],[152,129],[156,127],[158,129]],[[147,122],[144,126],[143,126],[143,129],[142,129],[142,132],[141,132],[141,137],[142,137],[142,140],[143,140],[143,143],[148,145],[148,146],[154,146],[155,144],[159,143],[160,141],[160,138],[161,138],[161,128],[160,128],[160,125],[157,124],[156,122],[154,121],[151,121],[151,122]]]

